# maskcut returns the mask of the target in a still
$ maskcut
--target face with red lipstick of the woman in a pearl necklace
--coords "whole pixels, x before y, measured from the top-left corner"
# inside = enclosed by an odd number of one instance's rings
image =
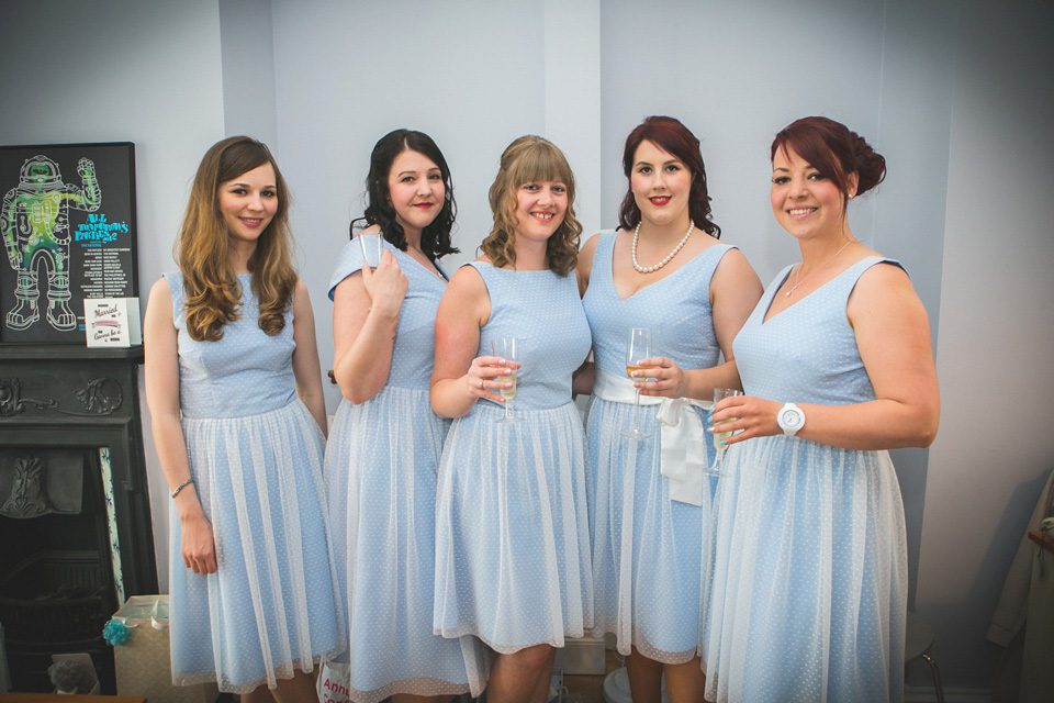
[[[692,171],[676,156],[644,140],[633,154],[629,188],[642,221],[688,224]]]

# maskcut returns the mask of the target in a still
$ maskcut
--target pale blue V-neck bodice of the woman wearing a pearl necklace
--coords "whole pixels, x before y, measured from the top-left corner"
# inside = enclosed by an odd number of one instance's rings
[[[731,247],[716,244],[670,276],[627,299],[615,290],[612,256],[616,234],[601,234],[593,256],[590,287],[582,304],[593,333],[593,358],[610,373],[626,373],[626,347],[631,327],[652,330],[652,356],[673,359],[682,368],[717,364],[720,347],[710,311],[710,278]]]

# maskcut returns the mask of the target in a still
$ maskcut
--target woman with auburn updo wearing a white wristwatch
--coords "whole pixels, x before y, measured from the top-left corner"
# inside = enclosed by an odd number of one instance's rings
[[[908,593],[887,449],[927,447],[940,397],[926,311],[846,207],[885,159],[827,118],[772,143],[772,210],[798,242],[736,337],[707,627],[707,698],[899,701]]]

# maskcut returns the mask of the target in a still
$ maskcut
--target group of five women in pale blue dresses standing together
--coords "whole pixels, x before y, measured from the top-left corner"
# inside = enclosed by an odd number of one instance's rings
[[[327,440],[289,190],[265,145],[214,145],[144,327],[175,683],[316,701],[330,661],[356,702],[542,703],[592,634],[636,703],[901,700],[887,449],[937,433],[929,325],[850,230],[883,157],[826,118],[769,156],[800,260],[763,290],[675,119],[629,134],[584,245],[567,158],[515,140],[457,270],[442,153],[386,134],[328,286]]]

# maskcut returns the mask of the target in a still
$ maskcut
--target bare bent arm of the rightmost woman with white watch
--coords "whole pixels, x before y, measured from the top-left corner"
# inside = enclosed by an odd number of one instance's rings
[[[877,265],[856,283],[846,306],[875,400],[852,405],[797,403],[805,412],[798,437],[846,449],[928,447],[940,421],[940,393],[922,302],[900,268]],[[729,399],[715,406],[714,420],[738,416],[721,429],[743,429],[735,444],[780,434],[776,412],[793,398]]]

